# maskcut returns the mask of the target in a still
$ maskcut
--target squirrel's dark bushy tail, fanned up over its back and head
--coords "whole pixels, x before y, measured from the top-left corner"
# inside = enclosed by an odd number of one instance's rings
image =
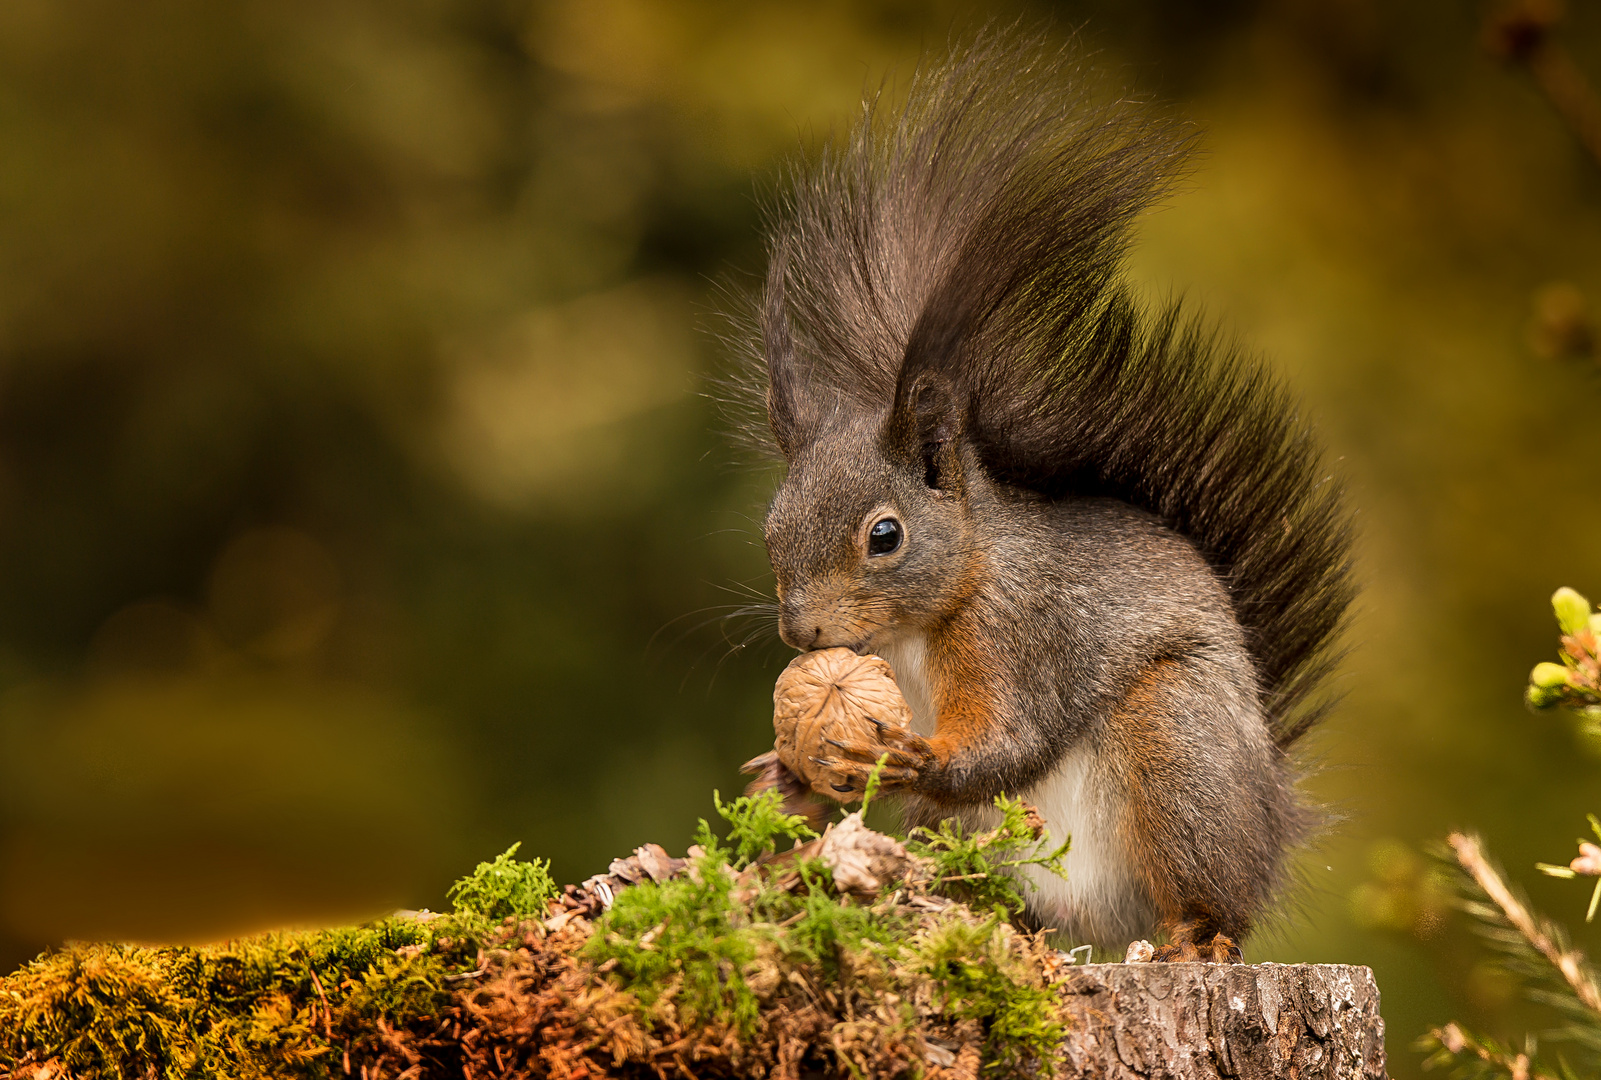
[[[965,403],[1001,480],[1103,494],[1188,536],[1222,576],[1279,746],[1318,717],[1351,600],[1350,523],[1295,403],[1238,347],[1121,282],[1130,226],[1183,174],[1191,131],[1097,102],[1077,61],[986,32],[869,101],[770,216],[746,430],[784,402],[887,414],[913,379]]]

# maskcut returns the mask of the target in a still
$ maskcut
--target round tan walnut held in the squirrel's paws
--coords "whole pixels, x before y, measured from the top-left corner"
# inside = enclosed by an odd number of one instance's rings
[[[773,747],[778,760],[812,790],[841,802],[861,797],[860,784],[817,763],[839,757],[825,739],[853,746],[879,742],[877,725],[906,728],[911,710],[882,656],[849,648],[802,653],[773,686]]]

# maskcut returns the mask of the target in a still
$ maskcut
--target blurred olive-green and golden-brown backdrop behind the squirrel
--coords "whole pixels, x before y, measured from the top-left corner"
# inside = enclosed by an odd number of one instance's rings
[[[1271,357],[1359,512],[1343,822],[1254,958],[1372,965],[1398,1075],[1519,1030],[1418,850],[1529,878],[1601,810],[1519,702],[1601,594],[1601,370],[1540,323],[1601,299],[1601,168],[1462,0],[0,5],[0,960],[682,846],[786,658],[717,618],[772,477],[703,395],[716,283],[991,14],[1204,128],[1137,278]],[[1595,5],[1561,40],[1601,78]]]

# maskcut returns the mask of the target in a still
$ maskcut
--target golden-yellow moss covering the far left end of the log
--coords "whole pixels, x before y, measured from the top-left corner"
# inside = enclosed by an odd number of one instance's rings
[[[474,966],[485,922],[384,918],[203,949],[70,946],[0,982],[0,1066],[56,1059],[88,1080],[343,1075],[336,1048],[379,1016],[405,1022],[453,1000],[447,976]]]

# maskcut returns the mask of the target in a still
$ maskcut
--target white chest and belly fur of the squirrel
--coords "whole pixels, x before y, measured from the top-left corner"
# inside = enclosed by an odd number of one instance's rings
[[[877,653],[895,670],[895,682],[911,707],[913,731],[935,734],[938,707],[929,674],[927,642],[908,635],[884,645]],[[1151,904],[1140,888],[1135,867],[1117,845],[1122,800],[1108,778],[1093,768],[1097,755],[1085,739],[1061,755],[1055,770],[1031,787],[1013,792],[1031,803],[1050,829],[1050,842],[1073,837],[1065,859],[1068,878],[1041,867],[1023,867],[1021,877],[1029,910],[1045,926],[1058,930],[1071,944],[1092,942],[1121,950],[1146,933]],[[969,806],[956,814],[969,829],[994,827],[1001,813],[994,806]]]

